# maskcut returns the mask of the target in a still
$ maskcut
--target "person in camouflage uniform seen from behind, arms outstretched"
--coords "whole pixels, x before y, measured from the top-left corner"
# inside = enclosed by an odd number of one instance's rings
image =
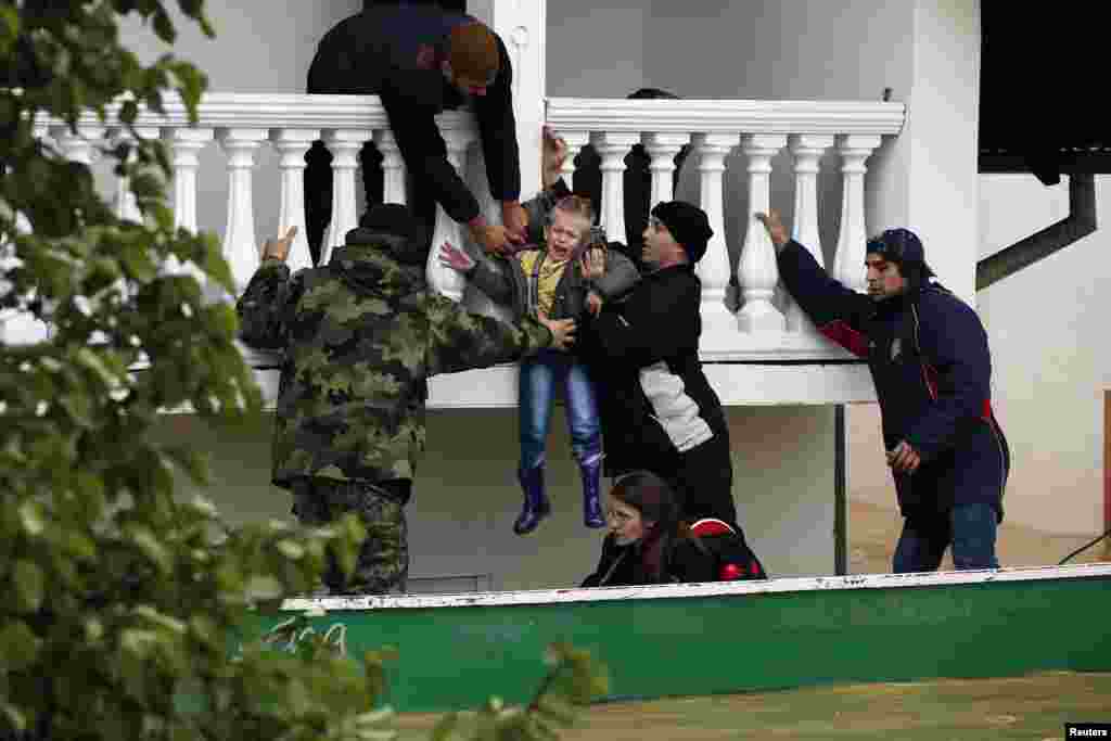
[[[246,343],[284,350],[273,483],[291,490],[306,525],[346,512],[366,525],[347,584],[331,559],[332,592],[403,591],[404,505],[424,449],[428,377],[565,348],[574,321],[526,314],[509,324],[429,290],[426,230],[397,203],[372,207],[327,266],[290,278],[294,234],[266,242],[237,306]]]

